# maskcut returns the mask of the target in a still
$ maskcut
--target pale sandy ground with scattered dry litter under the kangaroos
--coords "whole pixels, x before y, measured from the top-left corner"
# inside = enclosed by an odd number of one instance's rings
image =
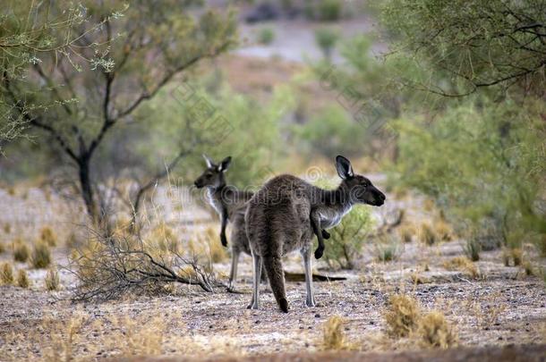
[[[7,197],[6,193],[0,195],[4,200]],[[20,205],[14,199],[17,195],[9,197],[13,205]],[[23,208],[32,201],[27,198],[19,202]],[[404,201],[405,206],[412,206],[412,202]],[[396,208],[397,202],[391,207]],[[195,215],[206,213],[196,210]],[[407,217],[425,215],[414,209]],[[51,218],[54,225],[64,224]],[[191,227],[200,229],[206,224]],[[481,260],[475,263],[480,275],[475,278],[464,270],[448,271],[443,266],[446,260],[462,255],[461,240],[433,247],[413,240],[404,244],[397,261],[388,263],[376,261],[373,250],[372,244],[364,247],[354,271],[330,271],[322,262],[315,265],[317,273],[347,278],[342,282],[315,282],[318,307],[304,306],[303,282],[287,283],[288,314],[278,311],[267,286],[261,287],[261,309],[246,308],[252,278],[248,256],[241,258],[238,293],[219,289],[210,294],[176,285],[169,293],[128,296],[106,303],[62,300],[70,297],[74,282],[71,274],[61,270],[64,290],[48,292],[43,282],[45,270],[18,263],[15,268],[28,269],[33,285],[30,290],[0,286],[0,360],[51,359],[55,350],[65,350],[68,344],[74,356],[91,359],[132,352],[195,358],[315,352],[322,348],[322,326],[330,316],[344,318],[346,340],[352,349],[420,349],[415,341],[393,339],[387,333],[384,313],[388,298],[399,292],[414,296],[423,312],[441,311],[455,327],[460,346],[546,343],[544,282],[525,274],[519,266],[505,266],[500,250],[482,252]],[[55,248],[54,255],[58,265],[66,265],[65,248]],[[532,251],[528,255],[533,255]],[[10,259],[9,252],[0,255],[1,261]],[[533,257],[533,263],[537,268],[546,265],[538,257]],[[426,272],[424,265],[428,265]],[[215,270],[225,280],[229,260],[215,265]],[[286,270],[302,272],[299,256],[286,259]]]

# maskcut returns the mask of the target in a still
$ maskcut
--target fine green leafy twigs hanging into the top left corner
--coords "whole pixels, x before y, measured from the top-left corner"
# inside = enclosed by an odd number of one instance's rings
[[[38,4],[12,1],[5,6],[6,12],[0,17],[0,74],[3,81],[4,77],[24,80],[28,75],[29,65],[40,62],[44,55],[55,55],[56,59],[66,58],[68,61],[80,57],[82,47],[76,46],[76,43],[81,35],[69,30],[77,24],[88,22],[90,32],[100,32],[104,25],[104,21],[90,23],[85,9],[79,4],[70,4],[64,8],[64,12],[55,15],[49,13],[50,6],[51,1]],[[115,19],[122,14],[112,13],[110,17]],[[55,38],[55,33],[64,33],[65,36]],[[107,44],[88,45],[91,49],[98,46]],[[89,60],[89,63],[99,62],[98,56]],[[27,112],[47,105],[27,102],[24,106],[24,111]],[[0,99],[0,151],[5,142],[20,137],[29,125],[20,111],[9,100],[6,101],[4,97]]]

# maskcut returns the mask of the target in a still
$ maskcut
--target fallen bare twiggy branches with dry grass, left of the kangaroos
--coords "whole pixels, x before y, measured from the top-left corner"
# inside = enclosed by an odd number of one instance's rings
[[[91,232],[93,237],[85,248],[73,253],[69,266],[77,279],[73,299],[107,300],[130,291],[164,292],[169,282],[198,285],[206,291],[223,286],[196,258],[183,257],[176,250],[150,248],[157,244],[142,240],[140,233],[117,232],[105,236],[104,232]]]

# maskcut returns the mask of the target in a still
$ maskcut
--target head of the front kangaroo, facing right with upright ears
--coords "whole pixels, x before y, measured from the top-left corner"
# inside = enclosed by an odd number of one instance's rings
[[[354,174],[351,162],[344,156],[336,157],[337,174],[344,189],[348,191],[351,203],[381,206],[385,203],[385,195],[377,189],[370,180],[360,174]]]

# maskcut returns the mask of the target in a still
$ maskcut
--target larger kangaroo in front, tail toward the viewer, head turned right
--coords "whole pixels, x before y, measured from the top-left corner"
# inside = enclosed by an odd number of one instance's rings
[[[253,262],[252,301],[249,308],[259,308],[260,272],[263,266],[278,307],[288,312],[281,257],[294,250],[299,250],[303,258],[307,291],[305,304],[314,307],[312,235],[316,234],[319,239],[315,257],[320,257],[324,249],[321,228],[336,226],[354,204],[381,206],[385,202],[385,195],[370,180],[354,174],[346,157],[336,157],[336,169],[342,179],[337,189],[320,189],[285,174],[266,182],[249,201],[245,214]]]

